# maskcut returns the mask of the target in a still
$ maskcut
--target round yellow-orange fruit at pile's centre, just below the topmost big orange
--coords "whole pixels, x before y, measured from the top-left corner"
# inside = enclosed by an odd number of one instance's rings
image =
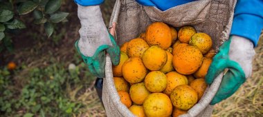
[[[145,50],[142,59],[149,70],[160,70],[167,61],[167,54],[161,47],[153,45]]]

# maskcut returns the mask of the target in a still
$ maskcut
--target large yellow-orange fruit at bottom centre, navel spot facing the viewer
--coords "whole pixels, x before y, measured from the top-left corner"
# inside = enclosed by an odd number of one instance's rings
[[[147,117],[168,117],[172,114],[172,103],[166,94],[153,93],[145,99],[143,109]]]

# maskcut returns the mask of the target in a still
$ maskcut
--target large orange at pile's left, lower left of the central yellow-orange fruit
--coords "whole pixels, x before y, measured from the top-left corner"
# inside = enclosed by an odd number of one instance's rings
[[[123,78],[129,83],[140,83],[145,78],[147,69],[140,57],[131,57],[123,63],[122,72]]]

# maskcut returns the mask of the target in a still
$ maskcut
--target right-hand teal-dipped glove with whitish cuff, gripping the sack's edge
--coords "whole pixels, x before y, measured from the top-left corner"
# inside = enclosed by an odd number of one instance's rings
[[[221,85],[210,105],[215,105],[234,94],[246,78],[251,76],[252,61],[255,55],[253,43],[240,36],[230,36],[230,39],[221,45],[219,52],[212,59],[206,83],[211,84],[225,69]]]

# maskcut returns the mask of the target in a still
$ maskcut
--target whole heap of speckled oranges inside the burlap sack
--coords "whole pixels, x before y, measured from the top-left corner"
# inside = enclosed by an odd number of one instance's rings
[[[162,22],[147,27],[120,46],[120,64],[113,67],[120,101],[135,116],[179,116],[203,96],[204,80],[215,50],[212,39],[192,26]]]

